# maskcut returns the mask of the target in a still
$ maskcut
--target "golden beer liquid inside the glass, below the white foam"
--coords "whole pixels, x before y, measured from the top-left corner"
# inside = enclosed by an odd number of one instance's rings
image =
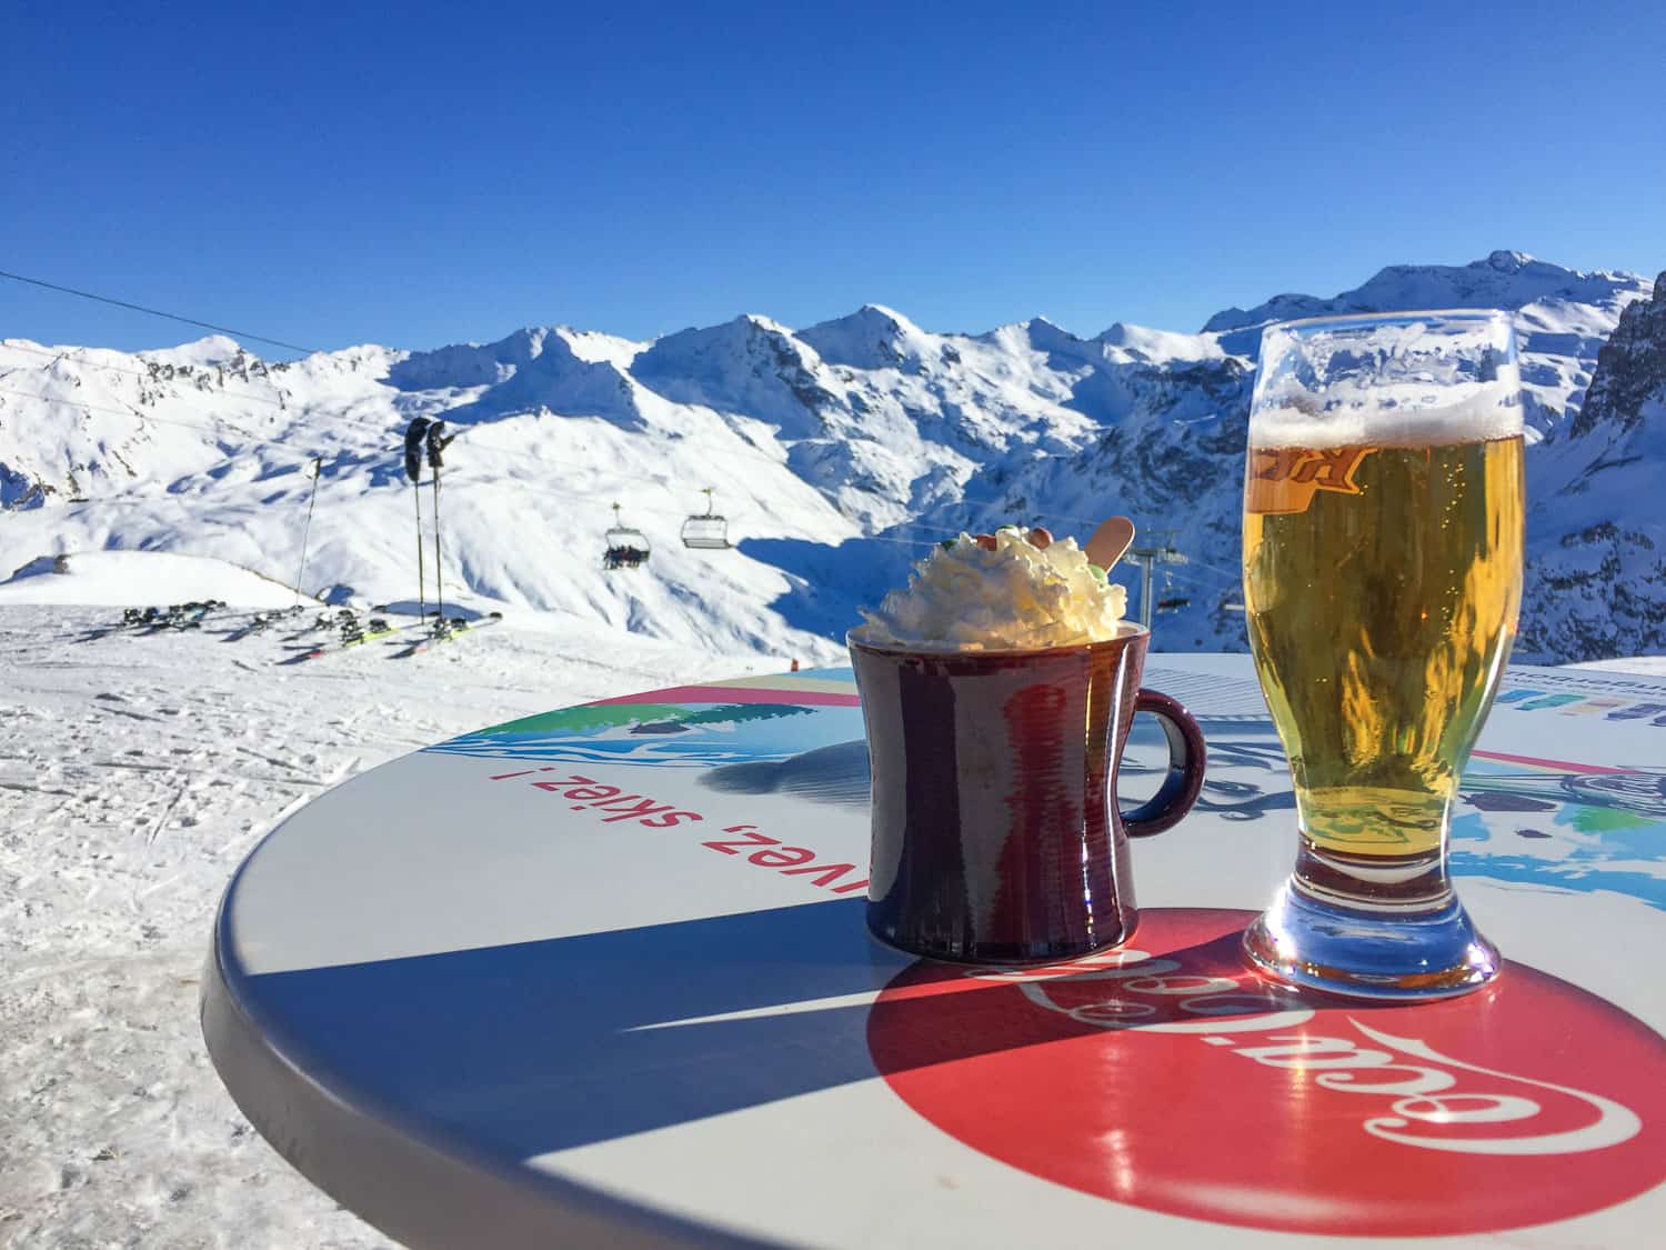
[[[1441,852],[1516,633],[1521,545],[1519,435],[1251,445],[1250,650],[1314,850]]]

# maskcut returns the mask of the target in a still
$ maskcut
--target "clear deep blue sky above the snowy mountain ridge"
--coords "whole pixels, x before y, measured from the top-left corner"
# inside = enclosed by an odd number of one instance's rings
[[[22,3],[0,268],[313,347],[1666,267],[1658,3]],[[0,282],[0,335],[195,337]],[[272,350],[268,355],[283,355]]]

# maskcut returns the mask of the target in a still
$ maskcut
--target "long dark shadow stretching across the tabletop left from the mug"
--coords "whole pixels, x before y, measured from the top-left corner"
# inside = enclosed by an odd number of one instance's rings
[[[871,992],[910,967],[908,983],[953,988],[960,1018],[971,993],[1003,1022],[921,1063],[1091,1032],[873,942],[860,898],[263,973],[240,998],[325,1087],[526,1158],[870,1080]],[[930,1037],[933,998],[891,1005],[895,1028]]]

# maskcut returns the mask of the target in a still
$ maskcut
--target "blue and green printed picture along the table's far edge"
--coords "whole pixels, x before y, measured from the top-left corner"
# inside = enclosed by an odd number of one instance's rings
[[[1198,812],[1294,818],[1289,770],[1253,680],[1163,667],[1146,685],[1198,717],[1210,770]],[[1581,727],[1624,723],[1639,758],[1594,755]],[[1156,735],[1150,735],[1156,740]],[[1496,742],[1531,743],[1499,750]],[[1658,740],[1658,742],[1656,742]],[[1163,767],[1135,742],[1125,777]],[[428,750],[540,763],[718,770],[786,765],[833,802],[866,795],[861,708],[850,668],[673,687],[525,717]],[[1536,887],[1609,890],[1666,910],[1666,682],[1578,670],[1511,670],[1464,772],[1453,870]]]

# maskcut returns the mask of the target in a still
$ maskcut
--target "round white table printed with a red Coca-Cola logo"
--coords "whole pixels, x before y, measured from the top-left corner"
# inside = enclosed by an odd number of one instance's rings
[[[280,825],[202,1018],[315,1183],[412,1247],[1653,1243],[1666,682],[1511,668],[1453,865],[1511,960],[1421,1007],[1236,962],[1293,853],[1246,657],[1153,655],[1210,743],[1126,948],[1015,973],[863,927],[850,670],[470,733]],[[1136,727],[1121,790],[1161,765]],[[1651,1232],[1654,1230],[1654,1232]]]

